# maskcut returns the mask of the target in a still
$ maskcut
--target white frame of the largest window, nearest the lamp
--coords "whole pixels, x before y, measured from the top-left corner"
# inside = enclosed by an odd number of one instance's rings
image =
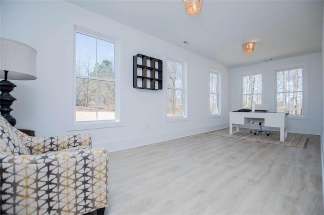
[[[75,74],[75,43],[76,43],[76,33],[82,33],[88,36],[92,36],[98,39],[106,40],[115,44],[115,57],[114,57],[114,82],[115,82],[115,119],[114,120],[95,120],[95,121],[80,121],[77,122],[75,119],[75,99],[76,99],[76,77]],[[109,128],[109,127],[118,127],[123,126],[120,119],[120,110],[121,110],[121,99],[120,99],[120,49],[121,49],[121,40],[111,36],[104,35],[102,33],[95,32],[83,27],[74,26],[73,30],[73,89],[72,89],[72,102],[68,102],[68,113],[67,117],[67,130],[87,130],[87,129],[98,129],[98,128]]]

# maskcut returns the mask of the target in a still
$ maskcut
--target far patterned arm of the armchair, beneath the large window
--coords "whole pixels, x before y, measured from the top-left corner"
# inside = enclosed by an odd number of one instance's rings
[[[90,134],[77,134],[56,137],[32,137],[19,133],[31,154],[42,154],[51,151],[59,151],[79,145],[91,147]]]

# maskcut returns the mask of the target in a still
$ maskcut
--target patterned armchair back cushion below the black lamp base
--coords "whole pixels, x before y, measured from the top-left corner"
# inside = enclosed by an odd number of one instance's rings
[[[18,132],[0,115],[0,152],[8,155],[29,154]]]

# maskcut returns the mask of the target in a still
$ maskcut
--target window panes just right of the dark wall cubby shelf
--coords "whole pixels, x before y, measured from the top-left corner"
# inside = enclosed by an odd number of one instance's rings
[[[168,60],[167,116],[186,117],[185,66],[182,62]]]

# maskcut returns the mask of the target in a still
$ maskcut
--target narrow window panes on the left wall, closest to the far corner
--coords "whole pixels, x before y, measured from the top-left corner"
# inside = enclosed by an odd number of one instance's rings
[[[220,74],[214,71],[210,72],[209,76],[209,86],[210,86],[210,93],[209,93],[209,113],[211,116],[219,115],[219,83],[220,83]]]

